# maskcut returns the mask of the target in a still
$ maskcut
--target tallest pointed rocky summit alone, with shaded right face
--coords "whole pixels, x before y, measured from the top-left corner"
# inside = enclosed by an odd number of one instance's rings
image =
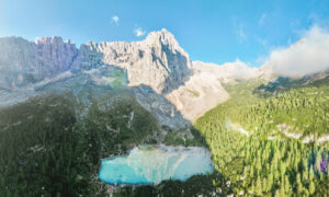
[[[171,92],[190,77],[192,62],[189,54],[166,28],[149,33],[138,46],[138,51],[143,54],[141,69],[147,70],[146,74],[156,77],[145,84],[150,85],[156,92]]]

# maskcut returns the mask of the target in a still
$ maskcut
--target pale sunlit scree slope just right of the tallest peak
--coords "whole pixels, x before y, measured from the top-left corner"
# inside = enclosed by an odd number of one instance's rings
[[[222,86],[223,82],[248,80],[260,76],[258,69],[250,68],[241,61],[222,66],[193,61],[191,71],[192,74],[184,85],[166,95],[183,117],[191,121],[229,97]]]

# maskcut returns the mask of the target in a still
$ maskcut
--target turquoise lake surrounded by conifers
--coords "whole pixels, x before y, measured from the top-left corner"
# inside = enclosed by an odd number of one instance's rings
[[[128,155],[102,160],[99,177],[111,185],[159,184],[213,171],[211,153],[204,148],[136,147]]]

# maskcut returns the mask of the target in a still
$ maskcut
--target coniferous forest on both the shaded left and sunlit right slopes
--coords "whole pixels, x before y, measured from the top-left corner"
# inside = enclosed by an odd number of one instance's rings
[[[115,196],[326,196],[328,79],[279,86],[229,83],[230,99],[194,123],[194,140],[170,129],[168,144],[204,146],[215,171],[186,182],[125,186]],[[133,99],[38,96],[0,111],[0,196],[106,196],[101,159],[157,143],[157,120]],[[110,101],[110,100],[109,100]],[[132,118],[134,116],[134,118]]]

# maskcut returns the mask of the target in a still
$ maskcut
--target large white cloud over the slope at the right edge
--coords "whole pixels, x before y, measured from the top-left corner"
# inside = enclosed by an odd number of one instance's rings
[[[272,51],[269,62],[279,74],[295,78],[329,69],[329,33],[314,26],[299,42]]]

